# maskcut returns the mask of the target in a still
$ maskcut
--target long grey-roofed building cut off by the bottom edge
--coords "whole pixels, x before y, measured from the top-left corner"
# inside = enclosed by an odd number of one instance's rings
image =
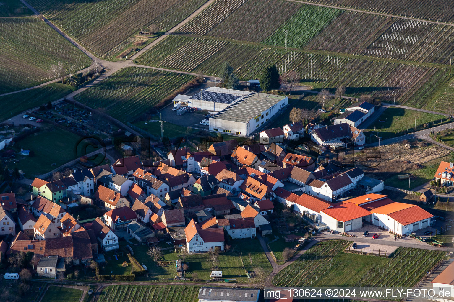
[[[212,288],[199,289],[198,299],[216,301],[257,301],[260,291],[249,288]]]

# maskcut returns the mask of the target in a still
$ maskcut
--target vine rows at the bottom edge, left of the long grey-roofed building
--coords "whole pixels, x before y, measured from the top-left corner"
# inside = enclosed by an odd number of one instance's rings
[[[197,286],[172,285],[114,285],[103,288],[99,302],[194,302],[197,301]]]

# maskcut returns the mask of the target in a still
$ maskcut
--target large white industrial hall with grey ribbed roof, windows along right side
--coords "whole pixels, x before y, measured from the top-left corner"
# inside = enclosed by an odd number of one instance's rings
[[[288,103],[286,96],[247,93],[241,100],[227,105],[225,109],[210,117],[211,131],[247,137]]]

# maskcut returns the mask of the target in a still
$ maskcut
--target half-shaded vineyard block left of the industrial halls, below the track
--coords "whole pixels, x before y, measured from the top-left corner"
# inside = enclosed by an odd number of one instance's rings
[[[79,93],[75,99],[121,121],[131,121],[172,94],[193,76],[127,67]]]

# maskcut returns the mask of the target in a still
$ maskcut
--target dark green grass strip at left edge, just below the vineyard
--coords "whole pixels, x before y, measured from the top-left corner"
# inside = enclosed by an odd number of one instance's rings
[[[0,119],[7,120],[10,117],[40,105],[47,105],[49,101],[55,101],[73,91],[73,87],[64,84],[52,83],[43,87],[22,91],[7,96],[0,96]]]

